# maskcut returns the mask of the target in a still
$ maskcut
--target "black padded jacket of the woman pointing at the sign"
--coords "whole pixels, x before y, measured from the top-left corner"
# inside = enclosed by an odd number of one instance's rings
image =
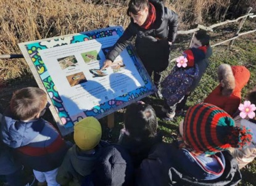
[[[164,7],[162,2],[156,0],[151,0],[150,2],[155,7],[156,20],[149,30],[137,25],[131,18],[130,25],[118,39],[114,49],[107,54],[107,59],[113,62],[136,36],[136,52],[146,69],[163,71],[168,67],[170,55],[168,42],[175,41],[178,29],[178,15]]]

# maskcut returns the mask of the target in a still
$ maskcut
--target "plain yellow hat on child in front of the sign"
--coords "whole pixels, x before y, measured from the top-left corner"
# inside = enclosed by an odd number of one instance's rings
[[[101,140],[101,124],[96,118],[87,117],[78,121],[74,126],[75,144],[81,150],[91,150]]]

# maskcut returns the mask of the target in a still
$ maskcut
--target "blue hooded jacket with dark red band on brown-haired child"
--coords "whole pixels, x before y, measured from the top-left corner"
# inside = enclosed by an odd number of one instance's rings
[[[1,140],[15,148],[15,158],[36,171],[56,169],[68,148],[59,132],[42,118],[19,121],[10,112],[2,117]]]

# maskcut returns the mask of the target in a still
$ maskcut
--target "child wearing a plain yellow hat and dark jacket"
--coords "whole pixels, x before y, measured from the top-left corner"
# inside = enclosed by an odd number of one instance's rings
[[[101,124],[96,118],[87,117],[75,124],[75,144],[68,150],[59,168],[56,178],[59,184],[81,185],[81,180],[91,174],[102,147],[109,144],[101,140],[101,135]]]

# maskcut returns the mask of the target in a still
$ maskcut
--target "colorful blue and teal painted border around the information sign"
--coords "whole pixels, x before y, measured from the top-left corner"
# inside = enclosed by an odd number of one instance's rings
[[[28,54],[30,55],[30,59],[33,62],[33,65],[35,65],[36,71],[38,72],[39,77],[43,81],[43,85],[46,88],[46,91],[48,92],[49,97],[51,98],[51,101],[54,107],[56,108],[56,111],[62,122],[62,126],[64,126],[65,129],[70,127],[73,128],[73,125],[77,121],[79,121],[82,118],[85,118],[86,116],[94,116],[98,119],[102,118],[114,111],[119,110],[120,108],[126,107],[131,102],[135,102],[136,100],[142,99],[143,97],[146,97],[147,95],[152,94],[154,92],[155,86],[152,84],[152,81],[150,80],[151,78],[149,78],[149,75],[146,73],[146,70],[143,67],[141,61],[138,59],[138,57],[136,57],[136,55],[134,55],[133,47],[128,46],[126,50],[128,51],[128,54],[133,60],[134,65],[138,70],[139,75],[141,75],[141,78],[143,79],[145,85],[143,87],[139,87],[134,91],[128,92],[122,96],[116,97],[113,100],[104,102],[91,110],[85,110],[83,111],[83,113],[75,117],[72,116],[72,118],[70,118],[70,116],[68,115],[67,111],[64,108],[62,99],[59,96],[57,88],[54,85],[54,82],[52,81],[52,78],[47,71],[46,65],[44,65],[44,62],[39,55],[39,50],[63,46],[66,44],[73,44],[76,42],[84,42],[91,39],[104,38],[116,34],[118,34],[118,36],[122,36],[122,26],[112,26],[100,30],[86,31],[83,33],[73,34],[70,36],[62,36],[57,39],[49,38],[49,40],[44,39],[41,41],[39,40],[35,42],[30,42],[29,44],[25,43],[25,47],[27,49]],[[62,130],[60,131],[62,132]],[[65,133],[66,132],[62,132],[62,134],[64,135]]]

